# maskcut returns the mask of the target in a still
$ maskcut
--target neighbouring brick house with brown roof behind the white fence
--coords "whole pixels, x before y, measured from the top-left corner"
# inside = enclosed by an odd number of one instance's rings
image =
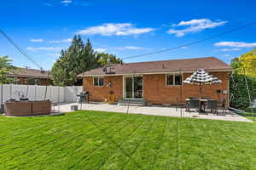
[[[23,85],[50,85],[49,71],[40,71],[28,68],[19,68],[15,73],[9,73],[9,77],[15,77],[15,84]]]

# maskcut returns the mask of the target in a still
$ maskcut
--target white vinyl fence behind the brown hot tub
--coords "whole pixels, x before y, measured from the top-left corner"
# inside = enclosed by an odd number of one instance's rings
[[[0,85],[0,99],[2,85]],[[46,86],[3,84],[3,102],[9,99],[19,99],[21,95],[29,100],[44,100]],[[48,86],[45,99],[53,103],[76,102],[77,95],[83,91],[82,86]],[[1,99],[2,101],[2,99]]]

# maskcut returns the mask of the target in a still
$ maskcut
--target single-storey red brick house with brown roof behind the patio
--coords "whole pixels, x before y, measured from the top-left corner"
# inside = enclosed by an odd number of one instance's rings
[[[80,74],[90,101],[106,101],[109,93],[119,99],[144,99],[149,104],[177,104],[177,99],[200,97],[200,87],[183,84],[196,69],[206,69],[222,82],[203,86],[203,96],[229,99],[230,65],[214,58],[174,59],[125,63],[97,68]]]

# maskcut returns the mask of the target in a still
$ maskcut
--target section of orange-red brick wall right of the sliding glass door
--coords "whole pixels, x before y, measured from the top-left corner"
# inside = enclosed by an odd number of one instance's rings
[[[190,74],[183,74],[183,80]],[[202,87],[202,96],[211,99],[228,99],[227,94],[218,94],[217,90],[228,90],[228,72],[212,73],[222,83]],[[183,86],[166,86],[166,75],[144,75],[143,97],[149,103],[176,104],[180,96],[182,101],[189,97],[200,97],[200,86],[183,84]],[[181,94],[181,95],[180,95]]]

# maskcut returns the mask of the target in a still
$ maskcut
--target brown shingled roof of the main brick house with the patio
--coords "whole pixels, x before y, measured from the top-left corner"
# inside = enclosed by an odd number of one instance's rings
[[[172,59],[160,61],[148,61],[140,63],[125,63],[123,65],[113,65],[114,75],[131,74],[158,74],[175,71],[191,72],[196,69],[207,71],[232,71],[232,67],[215,57],[195,58],[195,59]],[[102,68],[96,68],[79,74],[79,77],[111,76],[105,74]]]

